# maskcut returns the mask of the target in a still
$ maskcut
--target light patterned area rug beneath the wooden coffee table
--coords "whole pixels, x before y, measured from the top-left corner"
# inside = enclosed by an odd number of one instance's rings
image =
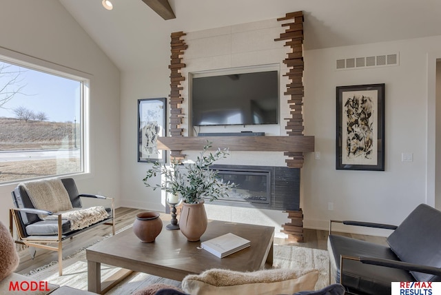
[[[318,269],[319,278],[316,289],[329,285],[329,256],[327,251],[299,247],[296,245],[274,245],[274,267],[289,269]],[[105,280],[118,272],[119,267],[101,265],[101,278]],[[28,274],[31,278],[48,281],[56,285],[66,285],[77,289],[88,289],[88,263],[85,259],[85,250],[70,255],[63,261],[63,276],[58,275],[57,262],[40,267]],[[134,272],[121,283],[113,287],[106,294],[132,294],[137,289],[148,285],[163,283],[181,287],[180,281],[161,278],[150,274]]]

